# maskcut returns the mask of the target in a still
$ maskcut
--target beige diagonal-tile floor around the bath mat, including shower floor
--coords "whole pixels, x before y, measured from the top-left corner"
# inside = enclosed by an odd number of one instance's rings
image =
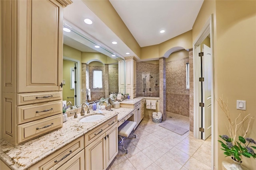
[[[169,117],[170,116],[170,117]],[[168,114],[167,122],[189,129],[189,118]],[[135,134],[124,139],[128,154],[118,147],[118,154],[107,170],[210,170],[211,137],[195,139],[188,131],[178,135],[144,118]]]

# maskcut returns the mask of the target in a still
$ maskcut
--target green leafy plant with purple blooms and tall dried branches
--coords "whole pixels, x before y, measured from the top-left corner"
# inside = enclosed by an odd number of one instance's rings
[[[248,122],[247,129],[244,133],[244,136],[238,136],[237,137],[237,129],[238,126],[244,123],[244,120],[246,117],[248,117],[250,114],[246,115],[242,121],[238,122],[238,118],[240,117],[241,113],[236,117],[235,122],[231,121],[230,119],[230,113],[228,110],[228,104],[223,101],[223,98],[220,98],[218,100],[218,104],[220,108],[224,111],[226,118],[228,119],[229,126],[226,125],[228,129],[228,135],[220,135],[220,138],[224,140],[224,142],[218,140],[218,142],[221,143],[221,150],[224,150],[224,154],[226,156],[231,156],[233,160],[237,162],[242,162],[242,156],[245,156],[247,158],[256,158],[256,154],[254,152],[254,149],[256,149],[255,146],[252,146],[252,144],[256,145],[256,142],[252,138],[244,138],[246,134],[248,133],[250,122],[253,119],[250,117],[250,120]],[[247,143],[246,143],[247,142]],[[249,146],[250,145],[250,146]]]

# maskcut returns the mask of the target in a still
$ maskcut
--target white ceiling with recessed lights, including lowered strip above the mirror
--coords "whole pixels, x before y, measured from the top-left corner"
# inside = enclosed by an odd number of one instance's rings
[[[191,30],[203,0],[110,0],[110,3],[140,47],[145,47],[162,43]],[[91,25],[84,23],[85,18],[90,18],[93,23]],[[136,56],[80,0],[73,0],[71,5],[64,8],[65,23],[121,58],[131,55]],[[162,29],[165,30],[164,33],[160,33]],[[118,44],[113,45],[112,41],[116,41]],[[76,43],[70,38],[65,39],[65,36],[64,43],[80,51],[86,51],[81,43]],[[97,51],[97,49],[94,50]],[[130,54],[126,55],[126,52]]]

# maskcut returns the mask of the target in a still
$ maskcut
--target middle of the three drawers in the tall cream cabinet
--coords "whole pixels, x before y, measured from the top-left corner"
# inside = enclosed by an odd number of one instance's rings
[[[18,106],[18,125],[62,113],[62,101]]]

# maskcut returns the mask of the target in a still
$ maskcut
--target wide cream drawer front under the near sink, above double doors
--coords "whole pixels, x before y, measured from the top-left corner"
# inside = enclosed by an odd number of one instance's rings
[[[115,116],[115,117],[111,118],[110,120],[106,121],[105,123],[103,123],[102,125],[99,125],[98,127],[94,128],[91,131],[89,131],[88,133],[86,133],[84,135],[85,145],[87,146],[90,143],[92,143],[92,141],[93,141],[92,139],[96,139],[97,137],[102,135],[102,133],[105,133],[106,130],[108,130],[110,127],[115,125],[117,123],[117,121],[118,121],[117,116]]]

